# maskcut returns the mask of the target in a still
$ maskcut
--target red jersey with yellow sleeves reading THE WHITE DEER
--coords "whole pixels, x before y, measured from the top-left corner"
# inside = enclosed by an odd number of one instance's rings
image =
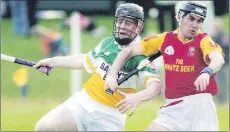
[[[206,33],[198,32],[197,36],[186,42],[178,37],[178,29],[165,32],[142,40],[142,51],[146,56],[161,52],[164,58],[166,98],[179,98],[201,93],[196,91],[194,81],[200,71],[208,66],[208,54],[219,51],[221,47]],[[210,77],[209,86],[204,93],[215,95],[217,85],[215,75]]]

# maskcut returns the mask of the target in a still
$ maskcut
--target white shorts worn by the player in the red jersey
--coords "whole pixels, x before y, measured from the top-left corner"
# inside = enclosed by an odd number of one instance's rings
[[[166,99],[153,122],[172,131],[218,131],[216,107],[208,93]]]

